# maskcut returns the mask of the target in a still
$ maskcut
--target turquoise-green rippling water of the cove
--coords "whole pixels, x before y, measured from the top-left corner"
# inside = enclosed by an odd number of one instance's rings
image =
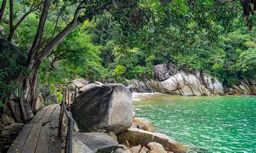
[[[256,152],[256,96],[133,95],[133,106],[190,151]]]

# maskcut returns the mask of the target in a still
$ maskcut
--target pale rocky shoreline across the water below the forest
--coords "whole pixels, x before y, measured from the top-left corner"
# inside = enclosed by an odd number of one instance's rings
[[[173,64],[171,66],[157,65],[154,68],[155,80],[125,80],[125,85],[132,93],[158,92],[184,96],[256,95],[256,78],[240,80],[237,85],[223,86],[218,78],[204,73],[203,70],[189,72],[184,68],[178,70]]]

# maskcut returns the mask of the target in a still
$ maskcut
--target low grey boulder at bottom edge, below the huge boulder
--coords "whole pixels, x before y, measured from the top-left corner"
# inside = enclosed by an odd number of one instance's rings
[[[73,152],[111,152],[118,147],[105,133],[76,133],[73,134]]]

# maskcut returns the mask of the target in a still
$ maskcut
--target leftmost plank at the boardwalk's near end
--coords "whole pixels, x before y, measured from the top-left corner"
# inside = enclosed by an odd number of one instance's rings
[[[15,138],[14,143],[11,144],[10,149],[8,152],[21,152],[22,148],[26,142],[26,139],[28,138],[28,135],[33,127],[33,124],[25,124],[25,126],[22,128],[22,131],[18,134],[18,136]]]

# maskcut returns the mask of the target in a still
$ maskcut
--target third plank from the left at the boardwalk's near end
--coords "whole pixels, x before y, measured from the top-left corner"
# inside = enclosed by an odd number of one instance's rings
[[[49,149],[49,141],[50,141],[50,122],[46,123],[42,126],[40,135],[38,138],[36,152],[37,153],[46,153]]]

